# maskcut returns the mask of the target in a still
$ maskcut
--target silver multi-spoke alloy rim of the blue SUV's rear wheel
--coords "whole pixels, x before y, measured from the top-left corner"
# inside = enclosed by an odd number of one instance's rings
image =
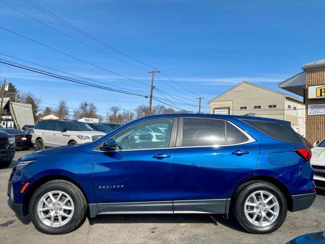
[[[280,206],[276,197],[270,192],[256,191],[247,197],[244,212],[251,224],[266,227],[278,218]]]

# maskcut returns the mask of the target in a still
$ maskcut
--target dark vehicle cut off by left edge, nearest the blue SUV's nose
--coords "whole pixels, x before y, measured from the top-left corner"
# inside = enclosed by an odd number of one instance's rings
[[[15,156],[15,138],[0,130],[0,167],[8,167]]]

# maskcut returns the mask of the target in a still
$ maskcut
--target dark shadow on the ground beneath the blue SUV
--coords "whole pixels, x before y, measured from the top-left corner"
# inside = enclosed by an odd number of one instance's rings
[[[87,216],[89,224],[139,224],[139,223],[170,223],[170,224],[215,224],[246,232],[234,219],[226,215],[209,214],[135,214],[135,215],[98,215],[95,218]]]

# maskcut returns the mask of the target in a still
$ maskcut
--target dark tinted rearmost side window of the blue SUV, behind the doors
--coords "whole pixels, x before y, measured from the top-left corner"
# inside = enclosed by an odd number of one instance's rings
[[[304,143],[304,141],[294,131],[294,129],[291,128],[290,123],[279,123],[273,121],[258,121],[248,119],[242,119],[242,121],[276,140],[294,143]]]

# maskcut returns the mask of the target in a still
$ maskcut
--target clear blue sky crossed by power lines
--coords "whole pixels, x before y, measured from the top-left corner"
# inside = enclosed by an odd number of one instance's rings
[[[96,66],[150,84],[149,67],[85,37],[26,2],[3,2],[141,69],[71,40],[3,3],[0,5],[2,27]],[[325,57],[325,1],[35,3],[110,46],[163,71],[186,89],[161,74],[155,78],[157,88],[193,105],[198,104],[196,97],[204,97],[204,108],[208,108],[207,101],[244,80],[284,92],[277,88],[279,82],[301,72],[303,64]],[[149,85],[82,63],[4,29],[0,29],[0,35],[1,53],[149,94]],[[1,58],[30,65],[5,55]],[[135,109],[140,104],[149,104],[145,98],[112,94],[107,90],[1,65],[0,78],[3,80],[5,77],[20,90],[41,97],[42,107],[52,106],[47,103],[57,104],[66,97],[71,113],[81,101],[94,102],[102,115],[112,105]],[[163,98],[157,91],[154,95]],[[186,110],[197,110],[175,98],[167,98]],[[154,101],[153,104],[158,103]]]

